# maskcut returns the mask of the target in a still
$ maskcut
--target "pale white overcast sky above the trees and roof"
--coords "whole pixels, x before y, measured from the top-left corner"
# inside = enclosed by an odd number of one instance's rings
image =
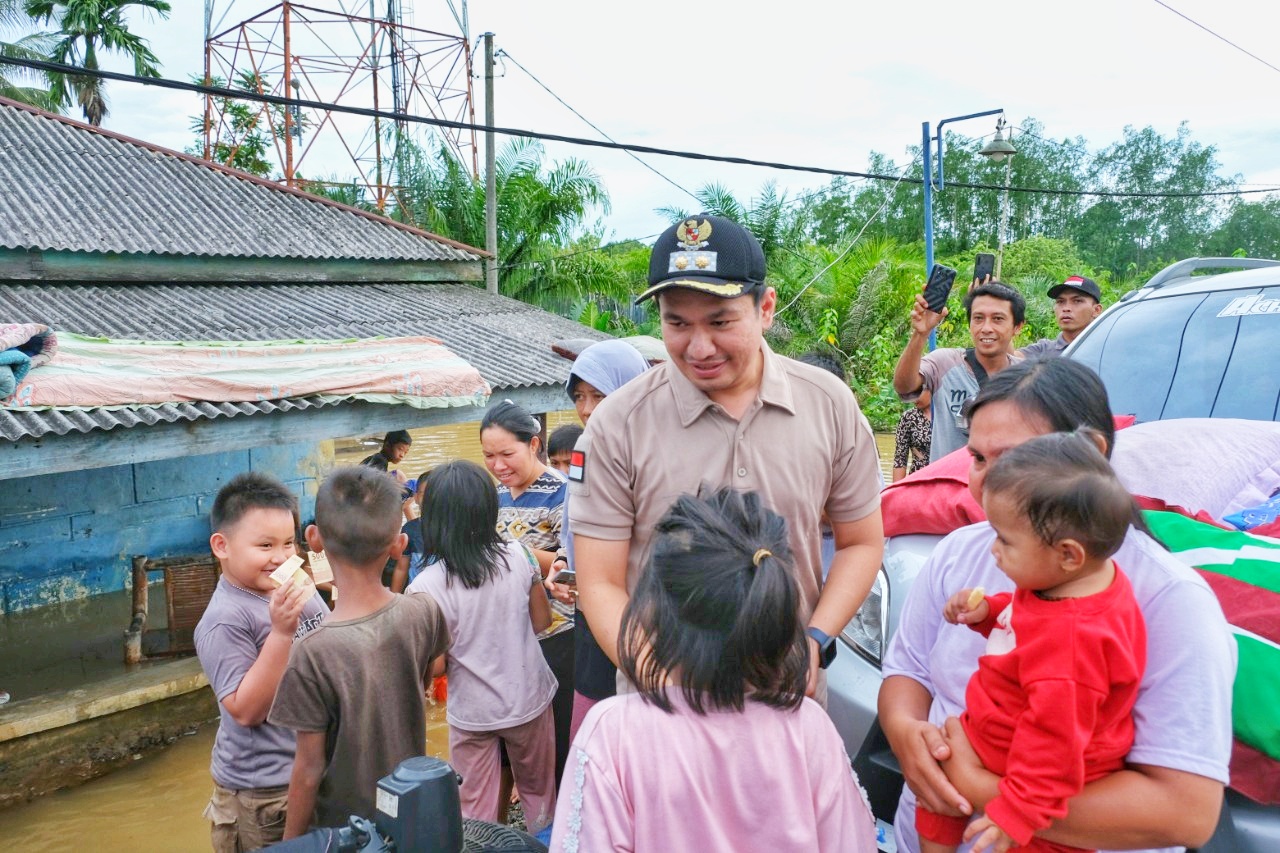
[[[308,3],[369,8],[360,0]],[[1167,3],[1280,67],[1271,37],[1280,4]],[[273,5],[215,0],[215,22],[232,26]],[[385,8],[385,0],[376,5]],[[131,26],[150,38],[164,76],[187,79],[204,67],[204,3],[173,6],[169,20],[134,13]],[[472,0],[468,12],[472,40],[494,32],[498,49],[622,142],[860,170],[873,150],[905,164],[922,122],[1004,108],[1014,126],[1034,117],[1046,136],[1083,136],[1092,149],[1119,140],[1125,126],[1172,134],[1187,120],[1196,141],[1217,149],[1226,174],[1280,184],[1280,72],[1156,0]],[[460,32],[445,0],[416,0],[412,23]],[[110,83],[109,97],[108,128],[177,149],[193,140],[196,95]],[[476,114],[483,117],[483,81]],[[497,124],[596,136],[509,63],[497,86]],[[995,119],[948,127],[984,136]],[[548,151],[552,159],[585,159],[599,172],[613,200],[607,238],[652,236],[667,224],[655,209],[695,206],[622,152],[556,143]],[[721,182],[742,200],[771,179],[791,196],[827,182],[645,159],[684,187]],[[319,155],[308,165],[312,175],[324,172]],[[346,169],[342,158],[333,159],[333,170]]]

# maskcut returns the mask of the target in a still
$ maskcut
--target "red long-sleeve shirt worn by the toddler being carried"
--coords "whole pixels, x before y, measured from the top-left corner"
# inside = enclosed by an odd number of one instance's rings
[[[1019,844],[1066,815],[1087,781],[1121,766],[1147,665],[1147,630],[1129,579],[1084,598],[989,596],[974,630],[987,653],[961,721],[983,766],[1004,776],[987,817]]]

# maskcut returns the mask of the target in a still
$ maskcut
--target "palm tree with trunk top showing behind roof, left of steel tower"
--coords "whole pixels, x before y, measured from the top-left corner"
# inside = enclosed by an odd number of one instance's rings
[[[151,53],[147,40],[134,36],[124,23],[129,6],[142,6],[169,17],[165,0],[26,0],[27,14],[58,24],[58,42],[50,59],[64,65],[78,65],[97,70],[97,49],[120,51],[133,59],[133,73],[138,77],[159,77],[160,60]],[[106,91],[102,78],[90,74],[59,74],[54,96],[63,106],[70,106],[72,96],[79,104],[90,124],[99,126],[106,118]]]

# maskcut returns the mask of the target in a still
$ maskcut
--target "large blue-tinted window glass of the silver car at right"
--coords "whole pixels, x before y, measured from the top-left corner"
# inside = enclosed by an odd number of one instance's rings
[[[1071,357],[1117,414],[1280,419],[1280,286],[1121,304],[1093,327]]]

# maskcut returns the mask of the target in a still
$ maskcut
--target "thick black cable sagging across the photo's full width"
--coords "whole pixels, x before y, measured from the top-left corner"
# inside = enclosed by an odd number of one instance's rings
[[[827,174],[842,178],[865,178],[868,181],[890,181],[890,182],[901,181],[902,183],[913,183],[913,184],[924,183],[922,178],[899,178],[891,174],[854,172],[852,169],[831,169],[827,167],[799,165],[794,163],[778,163],[773,160],[754,160],[750,158],[726,156],[718,154],[701,154],[698,151],[681,151],[677,149],[659,149],[649,145],[608,142],[602,140],[589,140],[576,136],[564,136],[561,133],[545,133],[541,131],[526,131],[511,127],[498,127],[498,126],[490,127],[488,124],[476,124],[471,122],[454,122],[451,119],[411,115],[408,113],[397,113],[394,110],[375,110],[365,106],[344,106],[340,104],[312,101],[300,97],[284,97],[280,95],[246,92],[242,90],[225,88],[221,86],[205,86],[204,83],[188,83],[184,81],[169,79],[166,77],[138,77],[136,74],[122,74],[118,72],[109,72],[102,69],[88,69],[77,65],[64,65],[61,63],[51,63],[38,59],[18,59],[14,56],[0,56],[0,65],[17,65],[22,68],[33,68],[37,70],[51,72],[55,74],[78,74],[81,77],[97,77],[101,79],[119,81],[123,83],[141,83],[143,86],[159,86],[160,88],[196,92],[200,95],[214,95],[216,97],[227,97],[232,100],[261,101],[264,104],[274,104],[276,106],[298,106],[298,108],[307,108],[312,110],[323,110],[329,113],[346,113],[349,115],[364,115],[366,118],[381,118],[381,119],[390,119],[394,122],[407,122],[411,124],[426,124],[430,127],[474,131],[477,133],[488,133],[492,131],[502,136],[527,137],[532,140],[544,140],[548,142],[563,142],[566,145],[581,145],[596,149],[611,149],[616,151],[634,151],[636,154],[655,154],[660,156],[682,158],[686,160],[705,160],[710,163],[728,163],[733,165],[760,167],[764,169],[778,169],[782,172],[808,172],[813,174]],[[1262,192],[1275,192],[1275,190],[1217,190],[1211,192],[1119,192],[1110,190],[1051,190],[1048,187],[1011,187],[996,183],[966,183],[966,182],[948,182],[947,186],[959,187],[961,190],[992,190],[996,192],[1030,192],[1030,193],[1051,195],[1051,196],[1089,196],[1100,199],[1203,199],[1208,196],[1242,196],[1242,195],[1252,195]]]

